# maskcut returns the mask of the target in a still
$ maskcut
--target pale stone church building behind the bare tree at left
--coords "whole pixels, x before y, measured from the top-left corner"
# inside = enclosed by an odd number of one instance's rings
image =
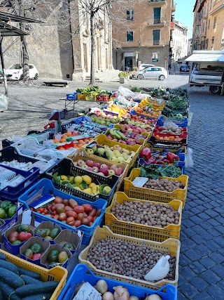
[[[55,9],[51,10],[52,13],[48,13],[50,10],[46,8],[36,9],[33,15],[27,12],[29,18],[45,20],[41,25],[31,25],[32,29],[27,37],[29,62],[36,66],[39,77],[80,80],[90,74],[90,20],[85,11],[79,9],[77,14],[77,0],[68,3],[69,9],[65,5],[62,6],[62,1],[55,1]],[[6,8],[1,9],[6,10]],[[71,22],[62,25],[59,22],[62,13],[66,17],[70,15]],[[30,30],[29,26],[27,30]],[[20,39],[15,40],[14,37],[4,39],[6,67],[21,63]],[[103,13],[99,14],[97,20],[95,41],[96,72],[111,70],[111,22]]]

